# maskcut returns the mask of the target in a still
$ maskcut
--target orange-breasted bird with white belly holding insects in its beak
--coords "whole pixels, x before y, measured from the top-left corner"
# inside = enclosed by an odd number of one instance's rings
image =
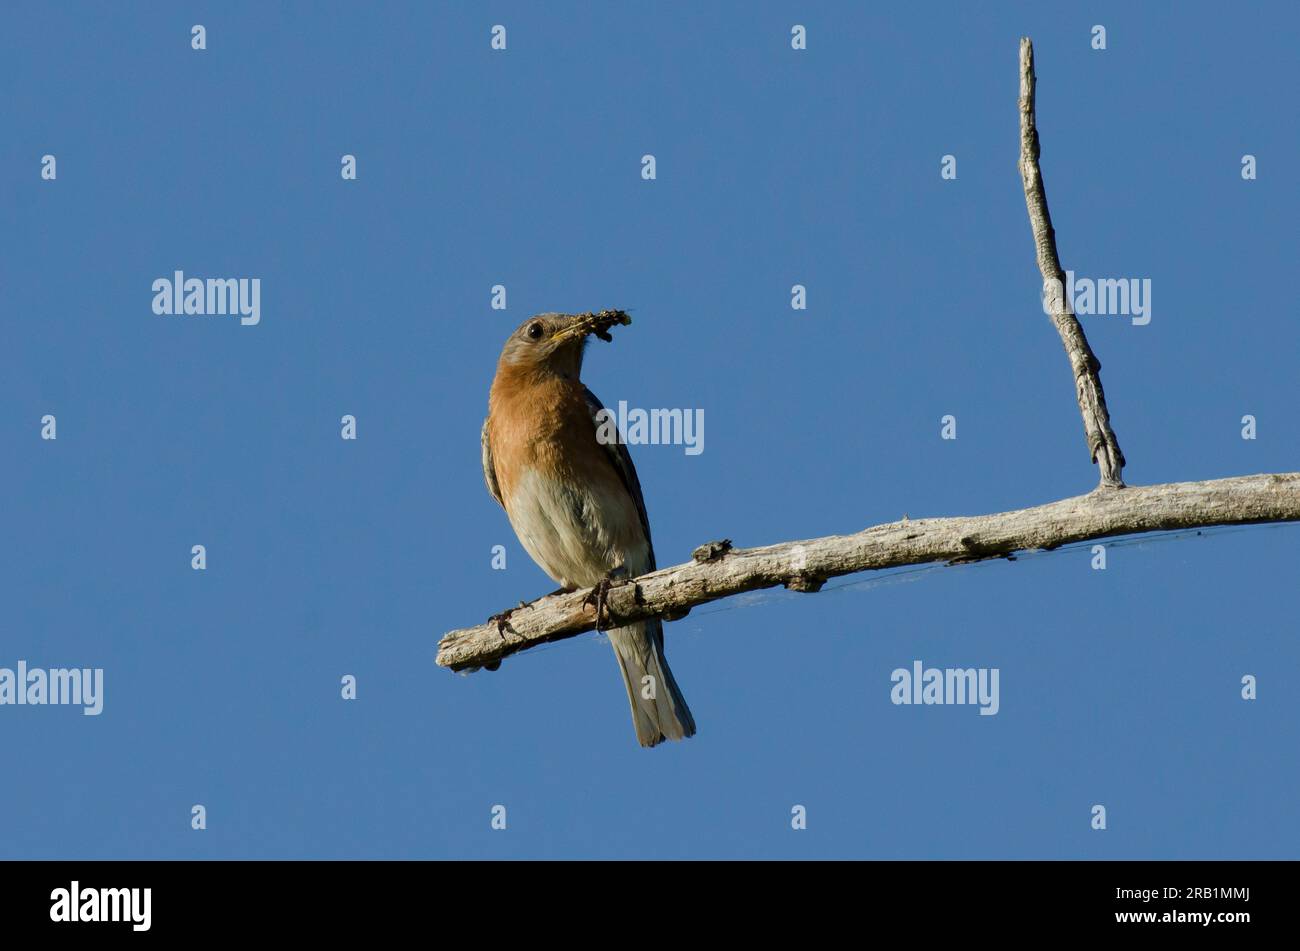
[[[597,414],[604,408],[580,379],[589,336],[612,339],[614,323],[630,323],[630,317],[623,311],[541,313],[520,323],[497,361],[481,433],[488,491],[562,591],[595,589],[597,626],[614,579],[655,569],[632,455],[623,439],[598,438],[604,417]],[[637,742],[653,747],[694,735],[696,720],[664,657],[660,620],[606,634]]]

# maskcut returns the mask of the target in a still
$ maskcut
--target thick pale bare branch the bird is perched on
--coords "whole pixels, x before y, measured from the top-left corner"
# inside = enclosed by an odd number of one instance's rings
[[[1149,531],[1300,521],[1300,473],[1242,476],[1212,482],[1098,487],[1087,495],[998,514],[916,518],[876,525],[855,535],[784,542],[764,548],[701,546],[696,559],[616,587],[608,608],[616,626],[653,616],[682,616],[697,604],[784,585],[816,591],[827,578],[936,561],[959,564],[1017,551],[1058,548]],[[455,670],[592,630],[585,591],[550,595],[523,607],[498,631],[494,622],[454,630],[438,646],[438,664]]]

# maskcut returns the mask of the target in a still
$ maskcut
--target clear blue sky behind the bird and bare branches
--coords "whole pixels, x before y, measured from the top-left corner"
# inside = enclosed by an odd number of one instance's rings
[[[0,666],[105,678],[0,707],[0,857],[1295,857],[1295,526],[699,608],[699,735],[650,751],[595,635],[434,665],[554,587],[478,460],[530,313],[630,309],[589,386],[705,411],[702,455],[633,447],[664,565],[1096,483],[1022,34],[1065,266],[1153,286],[1084,322],[1126,477],[1295,470],[1295,8],[478,6],[0,14]],[[177,269],[260,278],[261,322],[155,316]],[[998,668],[998,715],[893,705],[914,660]]]

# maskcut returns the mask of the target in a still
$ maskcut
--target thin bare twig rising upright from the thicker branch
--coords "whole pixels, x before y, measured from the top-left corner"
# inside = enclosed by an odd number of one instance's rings
[[[1050,301],[1052,322],[1056,323],[1061,343],[1074,370],[1075,396],[1083,413],[1083,431],[1088,438],[1088,452],[1101,470],[1101,485],[1124,485],[1124,455],[1119,440],[1110,429],[1106,394],[1101,388],[1101,361],[1088,346],[1069,300],[1065,299],[1065,272],[1057,257],[1056,231],[1048,213],[1048,196],[1043,188],[1039,169],[1039,130],[1034,112],[1034,43],[1020,38],[1020,179],[1024,182],[1024,204],[1030,210],[1034,244],[1037,248],[1039,270],[1043,273],[1044,299]]]

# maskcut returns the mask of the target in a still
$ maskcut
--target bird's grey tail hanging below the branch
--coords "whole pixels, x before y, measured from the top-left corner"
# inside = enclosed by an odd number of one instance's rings
[[[696,735],[696,718],[672,678],[663,656],[663,625],[658,618],[606,631],[628,689],[632,722],[641,746]]]

